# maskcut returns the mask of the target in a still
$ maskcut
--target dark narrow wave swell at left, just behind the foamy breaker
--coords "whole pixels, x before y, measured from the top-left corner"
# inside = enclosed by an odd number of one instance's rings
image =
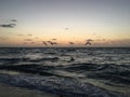
[[[31,74],[39,74],[39,75],[55,75],[60,77],[58,74],[53,74],[49,72],[53,70],[55,67],[53,66],[41,66],[41,65],[15,65],[15,66],[0,66],[0,70],[12,70],[17,72],[24,73],[31,73]],[[49,70],[49,71],[48,71]]]

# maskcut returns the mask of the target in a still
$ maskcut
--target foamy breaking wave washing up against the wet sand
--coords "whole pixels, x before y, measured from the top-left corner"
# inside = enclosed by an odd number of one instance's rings
[[[46,91],[67,97],[122,97],[120,94],[108,92],[70,78],[58,79],[55,77],[44,78],[38,75],[0,73],[0,82],[20,87]]]

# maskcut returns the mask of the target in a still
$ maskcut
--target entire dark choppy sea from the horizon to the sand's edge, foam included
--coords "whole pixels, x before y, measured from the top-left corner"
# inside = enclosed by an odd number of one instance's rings
[[[130,48],[0,48],[0,82],[65,97],[130,97]]]

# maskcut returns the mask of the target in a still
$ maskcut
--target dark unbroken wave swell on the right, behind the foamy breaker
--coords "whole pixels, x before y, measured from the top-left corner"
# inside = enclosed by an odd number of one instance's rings
[[[65,70],[82,73],[89,79],[109,81],[109,84],[115,83],[130,86],[129,65],[73,64],[66,67]]]

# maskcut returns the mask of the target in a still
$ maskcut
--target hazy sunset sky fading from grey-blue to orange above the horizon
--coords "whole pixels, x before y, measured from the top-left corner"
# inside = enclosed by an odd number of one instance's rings
[[[130,0],[0,0],[6,46],[130,47]]]

